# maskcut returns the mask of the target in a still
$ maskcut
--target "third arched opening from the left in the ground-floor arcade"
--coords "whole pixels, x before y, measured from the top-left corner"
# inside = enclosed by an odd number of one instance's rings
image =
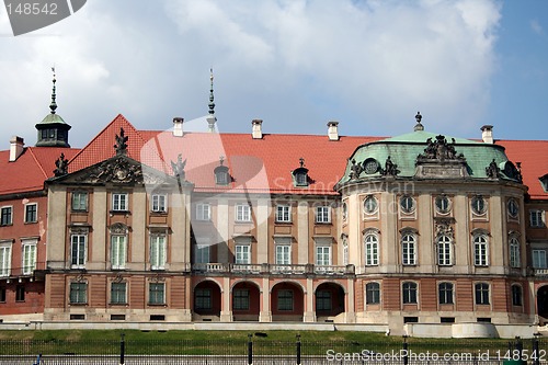
[[[300,285],[282,282],[272,287],[272,321],[302,322],[305,295]]]

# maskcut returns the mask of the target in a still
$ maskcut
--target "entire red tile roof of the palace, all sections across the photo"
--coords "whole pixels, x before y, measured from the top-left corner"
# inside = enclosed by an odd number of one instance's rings
[[[347,137],[329,140],[318,135],[263,135],[185,133],[174,137],[171,130],[137,130],[123,115],[117,115],[81,150],[28,147],[16,163],[8,162],[9,151],[0,151],[0,194],[39,190],[53,175],[60,152],[69,159],[69,172],[115,156],[115,136],[124,128],[128,137],[127,156],[172,174],[171,161],[178,155],[186,160],[186,180],[197,192],[271,192],[281,194],[334,195],[334,184],[344,173],[347,158],[363,144],[384,137]],[[548,198],[538,178],[548,173],[548,141],[498,140],[513,162],[522,162],[524,183],[532,198]],[[219,158],[233,179],[229,186],[215,184],[214,169]],[[310,185],[295,187],[292,171],[304,158]],[[4,171],[7,173],[4,173]]]

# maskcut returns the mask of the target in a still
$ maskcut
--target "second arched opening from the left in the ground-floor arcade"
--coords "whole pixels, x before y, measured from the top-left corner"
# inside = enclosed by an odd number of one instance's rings
[[[235,321],[259,321],[259,286],[252,282],[240,282],[232,287],[232,319]]]

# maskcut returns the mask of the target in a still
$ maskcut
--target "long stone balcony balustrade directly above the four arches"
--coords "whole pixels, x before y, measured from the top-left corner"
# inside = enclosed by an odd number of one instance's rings
[[[354,275],[354,265],[195,263],[194,274]]]

